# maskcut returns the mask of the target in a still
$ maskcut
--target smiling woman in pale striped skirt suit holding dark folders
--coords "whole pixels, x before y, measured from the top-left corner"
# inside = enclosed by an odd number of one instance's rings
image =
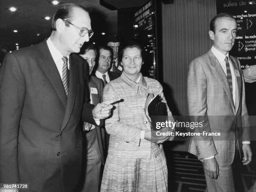
[[[169,137],[152,136],[144,112],[148,93],[159,94],[165,103],[166,100],[161,84],[141,74],[142,52],[141,45],[135,40],[124,42],[118,53],[124,71],[103,90],[103,101],[119,97],[123,102],[114,104],[113,115],[105,120],[110,141],[102,192],[167,191],[166,158],[159,143]],[[172,121],[168,107],[167,111]]]

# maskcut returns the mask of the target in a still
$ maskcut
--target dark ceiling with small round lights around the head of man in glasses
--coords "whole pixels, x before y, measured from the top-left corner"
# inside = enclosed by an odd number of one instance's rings
[[[102,32],[116,34],[117,10],[109,10],[100,5],[100,0],[59,0],[61,3],[77,3],[90,12],[92,29],[95,35],[91,41],[95,41]],[[33,45],[49,37],[51,33],[51,19],[59,5],[49,3],[50,0],[0,0],[0,46],[8,51],[19,47]],[[11,12],[10,7],[17,10]],[[14,33],[13,30],[18,30]],[[39,36],[37,34],[40,34]]]

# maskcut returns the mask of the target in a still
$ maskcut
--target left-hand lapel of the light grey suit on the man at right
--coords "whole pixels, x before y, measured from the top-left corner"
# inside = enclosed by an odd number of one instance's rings
[[[218,78],[220,79],[220,82],[222,82],[221,85],[223,86],[223,88],[225,89],[225,91],[227,93],[228,99],[232,104],[232,110],[235,114],[235,106],[234,106],[233,96],[232,96],[232,93],[229,88],[227,76],[226,76],[225,72],[223,71],[223,68],[221,67],[218,59],[213,55],[212,51],[208,51],[208,55],[209,55],[209,59],[210,59],[210,64],[213,66],[214,71],[216,72]]]

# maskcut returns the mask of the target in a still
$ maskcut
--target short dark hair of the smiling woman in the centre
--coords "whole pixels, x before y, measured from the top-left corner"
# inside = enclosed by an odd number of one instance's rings
[[[125,51],[125,49],[127,48],[138,48],[139,50],[141,50],[141,57],[142,57],[142,60],[144,58],[144,49],[141,45],[141,43],[136,40],[136,39],[129,39],[129,40],[125,40],[121,43],[121,45],[119,46],[119,49],[118,49],[118,59],[119,61],[121,62],[122,61],[122,58],[123,58],[123,52]]]

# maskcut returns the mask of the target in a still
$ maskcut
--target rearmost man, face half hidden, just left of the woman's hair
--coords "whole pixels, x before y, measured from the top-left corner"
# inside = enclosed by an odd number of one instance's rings
[[[107,45],[113,50],[113,61],[111,62],[109,71],[119,73],[123,72],[123,65],[118,59],[118,49],[121,43],[121,38],[117,35],[109,35],[106,38]]]

